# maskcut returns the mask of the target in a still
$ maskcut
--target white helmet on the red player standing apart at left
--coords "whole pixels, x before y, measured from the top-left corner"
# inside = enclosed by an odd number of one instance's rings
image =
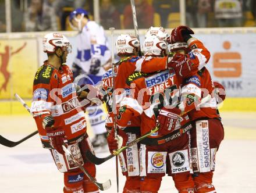
[[[67,51],[67,53],[72,52],[69,40],[60,33],[46,34],[44,38],[42,38],[42,46],[46,53],[54,53],[56,48],[61,48],[63,51]]]

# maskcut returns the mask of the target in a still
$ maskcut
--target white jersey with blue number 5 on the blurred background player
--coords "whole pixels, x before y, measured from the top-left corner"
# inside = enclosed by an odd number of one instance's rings
[[[77,35],[77,56],[74,63],[88,74],[91,58],[94,57],[101,60],[102,66],[111,58],[111,52],[108,49],[104,28],[89,20],[81,33]],[[96,75],[102,76],[104,73],[105,70],[101,67]]]

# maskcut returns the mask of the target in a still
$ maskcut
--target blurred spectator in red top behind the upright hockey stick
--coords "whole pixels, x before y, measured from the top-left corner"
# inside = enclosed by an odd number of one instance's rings
[[[148,3],[147,0],[135,0],[137,22],[140,28],[149,28],[154,26],[154,8]],[[131,12],[131,5],[128,4],[125,6],[123,12],[124,16],[124,26],[127,29],[133,28],[133,15]]]

